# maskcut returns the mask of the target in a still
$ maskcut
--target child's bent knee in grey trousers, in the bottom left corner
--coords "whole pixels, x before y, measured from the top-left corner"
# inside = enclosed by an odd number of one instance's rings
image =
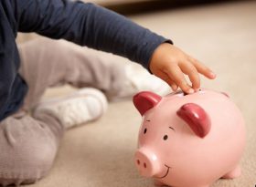
[[[57,152],[48,130],[12,122],[16,124],[0,123],[0,186],[36,182],[47,174]]]

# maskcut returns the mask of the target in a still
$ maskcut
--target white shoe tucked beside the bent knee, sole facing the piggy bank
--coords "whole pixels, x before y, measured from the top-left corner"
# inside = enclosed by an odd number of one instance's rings
[[[65,129],[95,120],[106,111],[108,102],[100,90],[82,88],[75,93],[58,99],[48,99],[37,105],[34,111],[53,114]]]

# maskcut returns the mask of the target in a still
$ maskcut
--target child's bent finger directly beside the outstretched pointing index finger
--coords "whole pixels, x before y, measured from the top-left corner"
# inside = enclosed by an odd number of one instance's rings
[[[194,67],[190,62],[184,65],[180,65],[181,70],[188,75],[194,89],[200,88],[200,78],[197,72],[197,68]]]

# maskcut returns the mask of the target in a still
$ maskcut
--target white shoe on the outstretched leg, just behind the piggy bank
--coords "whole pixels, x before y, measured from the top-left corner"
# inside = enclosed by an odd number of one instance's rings
[[[124,68],[126,80],[123,88],[111,100],[132,98],[140,91],[153,91],[156,94],[165,96],[171,92],[171,88],[160,78],[151,75],[146,69],[135,63],[127,64]]]

